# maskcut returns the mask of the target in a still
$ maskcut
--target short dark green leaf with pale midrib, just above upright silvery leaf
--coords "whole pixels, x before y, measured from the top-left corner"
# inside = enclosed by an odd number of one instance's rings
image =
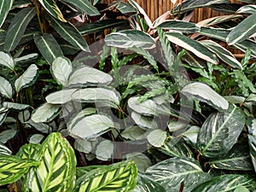
[[[44,59],[52,64],[58,56],[62,56],[62,50],[52,34],[45,33],[43,36],[34,36],[35,44],[44,56]]]

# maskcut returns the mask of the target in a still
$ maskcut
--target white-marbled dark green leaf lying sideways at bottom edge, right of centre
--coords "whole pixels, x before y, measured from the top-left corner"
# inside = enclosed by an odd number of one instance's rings
[[[183,192],[190,192],[198,184],[208,180],[209,175],[201,170],[198,161],[192,158],[172,158],[150,166],[145,175],[159,183],[166,191],[178,191],[184,183]]]

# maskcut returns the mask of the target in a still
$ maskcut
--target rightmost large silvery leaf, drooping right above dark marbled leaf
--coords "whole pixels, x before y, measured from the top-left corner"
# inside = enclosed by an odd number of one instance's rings
[[[220,111],[229,108],[229,102],[227,102],[223,96],[220,96],[217,92],[212,90],[207,84],[200,82],[187,84],[183,87],[181,93],[185,96],[195,96],[195,98],[201,102],[207,102],[207,104]]]

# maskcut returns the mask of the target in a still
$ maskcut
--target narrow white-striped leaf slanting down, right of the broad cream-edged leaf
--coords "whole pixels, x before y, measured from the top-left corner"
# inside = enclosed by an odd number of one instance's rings
[[[216,42],[212,40],[204,40],[200,42],[201,44],[205,45],[208,49],[210,49],[212,52],[214,52],[218,57],[234,68],[242,69],[241,62],[236,60],[236,57],[227,49],[225,49],[223,46],[217,44]]]

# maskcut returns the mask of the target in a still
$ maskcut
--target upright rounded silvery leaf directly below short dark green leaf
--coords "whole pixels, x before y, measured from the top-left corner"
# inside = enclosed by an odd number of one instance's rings
[[[58,84],[67,86],[69,75],[73,72],[71,61],[64,57],[57,57],[53,61],[50,69]]]

